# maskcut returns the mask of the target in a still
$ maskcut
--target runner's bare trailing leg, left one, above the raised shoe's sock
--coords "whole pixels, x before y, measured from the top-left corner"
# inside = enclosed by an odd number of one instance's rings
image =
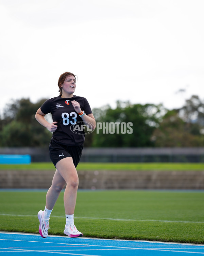
[[[63,177],[60,175],[58,170],[56,170],[54,177],[52,179],[52,185],[49,188],[47,195],[46,195],[46,208],[49,210],[52,210],[57,198],[60,195],[61,190],[65,186],[66,181],[63,179]]]

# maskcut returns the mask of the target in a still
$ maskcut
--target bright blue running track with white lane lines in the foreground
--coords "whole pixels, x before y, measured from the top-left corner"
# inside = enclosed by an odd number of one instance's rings
[[[69,238],[38,234],[0,232],[0,256],[35,255],[81,255],[81,256],[168,256],[204,254],[204,245],[107,240],[93,238]]]

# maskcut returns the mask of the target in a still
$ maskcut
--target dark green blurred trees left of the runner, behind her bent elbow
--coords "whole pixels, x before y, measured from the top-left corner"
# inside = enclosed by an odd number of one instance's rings
[[[48,145],[52,134],[35,119],[35,113],[44,101],[42,99],[34,104],[30,99],[20,99],[6,105],[0,130],[0,146]]]

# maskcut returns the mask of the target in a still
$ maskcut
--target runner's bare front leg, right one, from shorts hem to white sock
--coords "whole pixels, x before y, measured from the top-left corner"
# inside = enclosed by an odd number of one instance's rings
[[[67,183],[64,193],[65,214],[74,214],[79,178],[72,158],[66,157],[61,159],[57,162],[56,168]]]

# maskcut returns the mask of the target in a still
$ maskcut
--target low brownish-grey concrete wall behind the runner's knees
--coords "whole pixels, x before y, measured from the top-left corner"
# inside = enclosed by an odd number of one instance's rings
[[[0,171],[0,188],[49,188],[55,171]],[[204,189],[204,171],[78,171],[79,189]]]

